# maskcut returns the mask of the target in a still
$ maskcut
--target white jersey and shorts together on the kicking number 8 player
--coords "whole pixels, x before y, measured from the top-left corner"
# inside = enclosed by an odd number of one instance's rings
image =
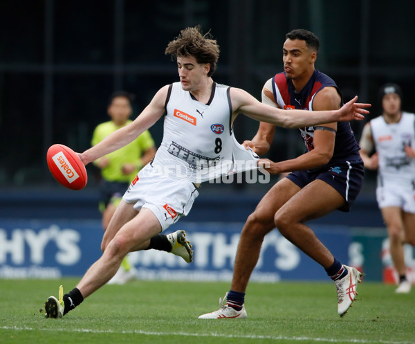
[[[199,183],[257,169],[257,154],[239,145],[232,132],[229,92],[230,87],[213,83],[203,104],[180,82],[169,85],[163,141],[123,197],[136,210],[154,212],[163,230],[188,214]]]

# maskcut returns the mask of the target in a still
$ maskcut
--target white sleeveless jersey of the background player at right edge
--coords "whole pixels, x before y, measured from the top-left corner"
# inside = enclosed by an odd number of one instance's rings
[[[415,115],[403,112],[399,123],[386,123],[383,116],[370,121],[372,137],[379,155],[378,177],[387,181],[415,179],[415,159],[404,152],[405,145],[415,147]]]

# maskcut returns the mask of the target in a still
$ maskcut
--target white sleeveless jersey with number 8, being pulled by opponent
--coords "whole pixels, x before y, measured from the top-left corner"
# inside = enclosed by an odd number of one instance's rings
[[[152,165],[163,173],[193,183],[223,174],[257,169],[259,157],[237,143],[232,133],[230,88],[213,84],[208,104],[170,86],[166,100],[163,141]]]

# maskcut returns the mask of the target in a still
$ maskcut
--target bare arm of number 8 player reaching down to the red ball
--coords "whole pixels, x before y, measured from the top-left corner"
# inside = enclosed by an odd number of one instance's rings
[[[114,152],[124,145],[128,145],[137,138],[142,132],[149,129],[157,120],[163,116],[165,111],[165,101],[169,86],[158,90],[149,105],[141,112],[141,114],[126,127],[118,129],[111,135],[107,136],[98,145],[91,147],[82,154],[79,154],[84,165],[91,163],[105,154]]]

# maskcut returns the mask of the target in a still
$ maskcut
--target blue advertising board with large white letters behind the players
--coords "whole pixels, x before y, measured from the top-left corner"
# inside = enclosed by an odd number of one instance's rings
[[[161,280],[230,280],[234,255],[243,223],[183,222],[169,231],[184,229],[194,247],[194,262],[162,251],[131,253],[130,261],[142,279]],[[360,248],[347,226],[313,226],[326,246],[345,263],[360,264],[370,257],[380,257],[384,235],[374,237]],[[356,235],[355,235],[356,236]],[[94,220],[0,221],[1,278],[59,278],[83,275],[100,255],[102,229]],[[360,240],[362,242],[362,240]],[[375,244],[374,244],[375,243]],[[357,245],[357,246],[356,246]],[[370,249],[369,249],[370,248]],[[372,280],[381,280],[380,258],[372,259]],[[376,269],[374,266],[378,266]],[[266,236],[252,280],[326,280],[324,270],[288,242],[277,230]]]

